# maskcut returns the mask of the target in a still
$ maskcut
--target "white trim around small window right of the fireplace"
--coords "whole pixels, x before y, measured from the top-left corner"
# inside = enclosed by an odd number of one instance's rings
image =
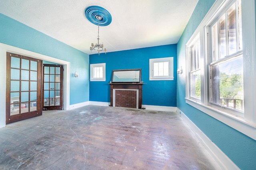
[[[153,77],[154,72],[154,63],[156,62],[169,62],[169,76],[159,76]],[[173,65],[173,57],[164,57],[164,58],[157,58],[157,59],[149,59],[149,80],[174,80],[174,65]]]

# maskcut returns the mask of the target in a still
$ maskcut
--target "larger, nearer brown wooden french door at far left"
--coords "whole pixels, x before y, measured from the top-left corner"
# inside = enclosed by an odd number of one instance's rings
[[[42,115],[42,60],[6,53],[6,124]]]

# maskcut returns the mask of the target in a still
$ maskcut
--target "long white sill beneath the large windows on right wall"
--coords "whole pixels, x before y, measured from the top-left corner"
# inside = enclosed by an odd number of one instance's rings
[[[186,103],[190,106],[195,107],[196,109],[210,115],[211,117],[214,117],[222,123],[225,123],[226,125],[256,140],[256,125],[248,123],[244,120],[244,118],[233,115],[231,113],[220,111],[219,109],[216,109],[211,106],[203,105],[200,102],[196,102],[188,98],[185,99]]]

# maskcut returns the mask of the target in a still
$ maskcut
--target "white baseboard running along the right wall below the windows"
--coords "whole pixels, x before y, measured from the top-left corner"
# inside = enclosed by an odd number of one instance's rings
[[[180,109],[177,108],[177,112],[180,113],[182,119],[195,133],[199,141],[204,145],[209,154],[214,158],[217,164],[223,170],[240,170],[226,154],[222,152]]]

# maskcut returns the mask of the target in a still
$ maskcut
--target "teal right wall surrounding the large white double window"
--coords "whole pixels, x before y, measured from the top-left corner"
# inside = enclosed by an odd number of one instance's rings
[[[215,0],[199,0],[177,44],[178,66],[186,68],[185,45]],[[185,72],[185,69],[184,69]],[[256,167],[256,141],[206,113],[186,104],[186,75],[178,76],[177,107],[217,145],[240,169]]]

